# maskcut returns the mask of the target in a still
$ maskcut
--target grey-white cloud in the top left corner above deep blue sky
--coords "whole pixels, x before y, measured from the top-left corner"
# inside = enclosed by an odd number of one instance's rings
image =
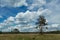
[[[28,5],[26,0],[0,0],[1,7],[20,7],[22,5]]]

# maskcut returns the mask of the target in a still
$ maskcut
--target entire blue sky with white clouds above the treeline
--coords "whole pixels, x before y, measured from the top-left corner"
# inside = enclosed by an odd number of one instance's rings
[[[0,30],[38,32],[37,19],[45,16],[48,30],[60,30],[60,0],[0,0]]]

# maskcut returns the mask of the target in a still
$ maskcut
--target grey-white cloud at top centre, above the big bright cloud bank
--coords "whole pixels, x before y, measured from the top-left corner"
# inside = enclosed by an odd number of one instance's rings
[[[46,4],[45,0],[33,0],[33,3],[29,5],[28,9],[34,10],[35,7],[40,8],[41,6],[43,6],[45,4]]]

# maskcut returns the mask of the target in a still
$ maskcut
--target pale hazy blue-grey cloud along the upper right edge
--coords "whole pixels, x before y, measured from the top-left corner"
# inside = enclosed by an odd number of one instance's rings
[[[46,8],[51,10],[50,18],[48,18],[49,23],[59,23],[60,24],[60,2],[59,0],[51,0],[51,2],[46,4]]]

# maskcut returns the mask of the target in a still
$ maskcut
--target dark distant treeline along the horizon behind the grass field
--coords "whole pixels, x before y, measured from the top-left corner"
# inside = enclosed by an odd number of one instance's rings
[[[40,32],[0,32],[0,34],[40,34]],[[60,31],[43,32],[43,34],[60,34]]]

